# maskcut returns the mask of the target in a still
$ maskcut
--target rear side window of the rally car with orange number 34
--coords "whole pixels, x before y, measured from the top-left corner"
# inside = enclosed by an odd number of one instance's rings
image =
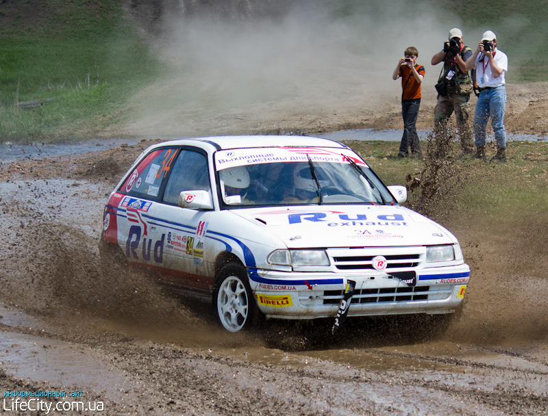
[[[152,151],[124,181],[121,192],[140,198],[157,198],[177,155],[177,148]]]

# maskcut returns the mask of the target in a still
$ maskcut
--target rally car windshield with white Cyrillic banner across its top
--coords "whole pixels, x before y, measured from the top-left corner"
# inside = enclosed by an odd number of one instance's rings
[[[349,149],[247,148],[219,151],[215,161],[225,208],[394,203]]]

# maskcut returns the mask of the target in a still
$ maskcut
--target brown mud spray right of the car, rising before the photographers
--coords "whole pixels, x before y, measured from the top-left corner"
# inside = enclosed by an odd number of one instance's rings
[[[453,201],[462,200],[463,183],[478,177],[488,181],[497,173],[459,157],[455,132],[449,122],[438,137],[429,134],[421,170],[407,177],[411,207],[458,234],[471,268],[464,313],[447,338],[488,344],[545,341],[548,225],[527,211],[508,218],[456,213]]]

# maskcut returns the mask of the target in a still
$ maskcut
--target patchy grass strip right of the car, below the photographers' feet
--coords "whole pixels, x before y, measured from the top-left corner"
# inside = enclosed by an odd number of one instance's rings
[[[360,153],[386,185],[406,185],[407,175],[418,175],[423,168],[419,159],[398,159],[394,142],[347,145]],[[426,149],[426,143],[421,147]],[[493,155],[494,147],[488,153]],[[456,212],[460,218],[486,216],[501,224],[525,216],[548,222],[548,146],[545,142],[509,142],[507,157],[506,164],[456,159],[456,183],[450,193],[439,196],[439,211],[428,212],[428,216],[447,226]],[[417,196],[410,195],[408,205],[416,200]]]

